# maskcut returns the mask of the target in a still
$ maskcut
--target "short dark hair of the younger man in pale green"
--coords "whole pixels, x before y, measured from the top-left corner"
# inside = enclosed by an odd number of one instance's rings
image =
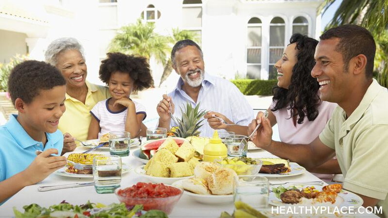
[[[339,38],[336,51],[342,54],[345,72],[348,71],[350,59],[364,54],[366,56],[365,75],[367,78],[372,78],[376,43],[367,29],[354,24],[346,24],[331,28],[319,37],[320,40],[331,38]]]

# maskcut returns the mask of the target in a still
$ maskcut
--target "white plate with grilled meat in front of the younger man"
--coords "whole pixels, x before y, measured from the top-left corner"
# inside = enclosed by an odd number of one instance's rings
[[[308,186],[309,187],[314,186],[315,189],[318,191],[322,191],[322,188],[323,188],[323,186],[320,186],[320,185],[303,185],[303,184],[300,184],[300,185],[289,184],[289,185],[282,185],[282,186],[285,188],[287,188],[289,186],[295,186],[299,190],[302,188],[308,187]],[[279,186],[271,186],[270,189],[272,190],[272,188],[276,188],[276,187],[279,187]],[[277,198],[275,193],[272,191],[269,193],[268,200],[269,200],[268,201],[269,204],[272,204],[275,206],[298,206],[298,204],[283,203],[282,200]],[[364,203],[363,199],[360,196],[358,196],[357,194],[351,193],[351,192],[346,191],[346,190],[342,190],[338,194],[338,196],[336,198],[336,202],[333,204],[333,207],[338,206],[339,208],[350,208],[350,207],[357,208],[357,207],[360,207],[361,205],[363,205],[363,203]],[[302,205],[302,203],[299,203],[299,204]],[[305,204],[303,204],[303,205],[305,205]],[[315,204],[313,204],[313,205],[315,205]],[[326,203],[324,203],[324,205],[327,206],[327,205],[329,205],[329,203],[326,202]],[[316,205],[316,206],[319,206],[319,205]]]

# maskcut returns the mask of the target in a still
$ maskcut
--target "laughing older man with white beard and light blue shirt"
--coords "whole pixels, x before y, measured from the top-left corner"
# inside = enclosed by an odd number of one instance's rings
[[[171,113],[182,117],[180,108],[190,102],[193,107],[198,103],[199,109],[209,111],[207,119],[199,129],[200,136],[211,137],[214,130],[209,123],[222,124],[227,131],[233,131],[231,124],[247,125],[253,118],[253,110],[240,90],[230,81],[205,73],[203,53],[192,40],[177,42],[171,51],[172,68],[180,74],[175,89],[163,95],[156,110],[159,114],[159,127],[170,129],[178,124],[171,120]],[[176,109],[176,110],[175,110]],[[214,116],[221,117],[227,124],[221,123]],[[225,131],[225,130],[221,130]]]

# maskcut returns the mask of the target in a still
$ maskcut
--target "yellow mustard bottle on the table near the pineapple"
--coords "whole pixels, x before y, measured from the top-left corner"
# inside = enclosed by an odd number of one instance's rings
[[[213,162],[216,159],[223,159],[228,156],[228,149],[218,137],[217,130],[214,131],[210,143],[203,148],[203,161]]]

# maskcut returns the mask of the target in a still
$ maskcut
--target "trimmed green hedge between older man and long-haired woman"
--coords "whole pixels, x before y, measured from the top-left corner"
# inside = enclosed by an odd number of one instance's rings
[[[277,84],[277,79],[233,79],[230,81],[246,96],[272,96],[272,88]]]

